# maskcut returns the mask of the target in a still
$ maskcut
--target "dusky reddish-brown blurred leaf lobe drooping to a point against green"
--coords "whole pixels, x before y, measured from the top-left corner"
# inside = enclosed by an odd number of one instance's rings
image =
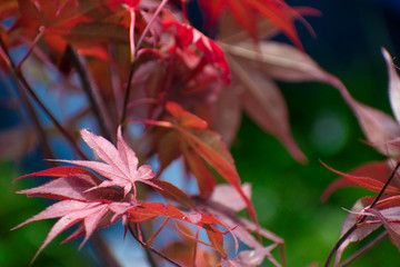
[[[278,87],[257,69],[241,67],[229,58],[233,76],[246,89],[241,95],[247,113],[268,132],[277,137],[300,162],[307,161],[290,132],[288,109]]]

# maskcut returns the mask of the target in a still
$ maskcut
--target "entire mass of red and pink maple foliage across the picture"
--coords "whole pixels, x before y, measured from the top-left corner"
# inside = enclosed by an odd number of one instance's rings
[[[73,167],[59,166],[20,177],[54,178],[18,192],[59,200],[16,227],[59,218],[33,259],[56,236],[76,224],[77,230],[64,241],[84,236],[82,246],[96,230],[122,220],[126,234],[129,230],[143,247],[176,265],[258,266],[267,258],[280,266],[271,251],[282,247],[283,240],[258,225],[250,186],[241,182],[229,151],[244,111],[277,137],[296,160],[307,161],[291,135],[288,109],[277,81],[319,81],[337,87],[371,144],[389,155],[398,152],[393,148],[400,135],[398,122],[353,100],[337,78],[303,52],[293,20],[308,26],[302,14],[318,14],[316,10],[294,9],[282,0],[200,0],[204,27],[218,29],[211,40],[190,26],[186,2],[0,3],[0,68],[19,81],[22,96],[29,93],[21,106],[28,107],[36,121],[34,126],[27,123],[7,132],[27,140],[8,146],[8,150],[0,148],[0,156],[10,155],[11,150],[26,151],[40,142],[48,158],[54,158],[47,138],[58,132],[80,157],[51,161]],[[279,31],[294,46],[269,40]],[[21,48],[23,56],[14,57],[13,52]],[[40,89],[34,85],[39,79],[33,71],[46,76],[50,91],[62,97],[77,93],[87,101],[62,118],[53,116],[38,96]],[[391,88],[400,88],[393,71]],[[399,98],[396,89],[391,89],[391,95]],[[39,121],[34,105],[50,118],[51,126]],[[58,105],[69,108],[62,99]],[[399,107],[393,107],[398,113]],[[88,119],[99,135],[80,130]],[[79,136],[99,161],[86,156]],[[157,159],[158,170],[139,166],[139,159],[147,164]],[[178,160],[183,162],[187,178],[196,180],[198,194],[189,195],[161,178]],[[384,186],[384,177],[392,169],[386,162],[367,165],[343,175],[327,194],[353,184],[374,191],[386,188],[387,197],[378,201],[362,199],[362,208],[357,206],[349,220],[368,221],[369,230],[383,224],[399,245],[392,211],[397,211],[400,189],[394,181]],[[367,172],[372,177],[358,177]],[[227,184],[218,185],[217,177]],[[150,200],[153,195],[163,200]],[[237,215],[243,209],[251,220]],[[149,227],[142,226],[153,226],[158,217],[164,218],[161,227],[146,240],[150,233],[142,231]],[[152,241],[163,228],[174,229],[180,239],[154,248]],[[200,238],[200,231],[206,233],[208,240]],[[227,235],[233,237],[234,257],[228,256]],[[263,238],[270,245],[264,246]],[[247,248],[238,253],[239,241]],[[176,247],[186,249],[178,253]]]

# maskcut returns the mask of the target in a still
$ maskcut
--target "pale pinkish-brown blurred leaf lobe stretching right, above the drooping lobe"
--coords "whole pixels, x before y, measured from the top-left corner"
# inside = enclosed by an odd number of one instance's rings
[[[329,76],[301,50],[280,42],[251,41],[228,44],[222,49],[238,62],[251,66],[264,75],[282,81],[327,81]]]

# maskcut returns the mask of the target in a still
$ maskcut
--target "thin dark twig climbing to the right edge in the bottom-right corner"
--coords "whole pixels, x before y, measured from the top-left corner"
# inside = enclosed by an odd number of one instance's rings
[[[379,191],[379,194],[377,195],[377,197],[373,199],[372,204],[370,205],[369,208],[373,208],[378,200],[382,197],[384,190],[387,189],[387,187],[389,186],[389,184],[392,181],[392,179],[396,177],[397,171],[400,168],[400,161],[397,162],[393,171],[390,174],[388,180],[384,182],[382,189]],[[329,267],[330,263],[332,261],[332,258],[334,256],[334,254],[337,253],[337,250],[339,249],[339,247],[343,244],[343,241],[346,241],[346,239],[359,227],[359,225],[363,221],[366,221],[367,219],[367,215],[362,215],[360,217],[360,219],[358,221],[356,221],[346,233],[343,236],[340,237],[340,239],[338,240],[337,244],[334,244],[332,250],[329,253],[328,258],[326,264],[323,265],[324,267]]]

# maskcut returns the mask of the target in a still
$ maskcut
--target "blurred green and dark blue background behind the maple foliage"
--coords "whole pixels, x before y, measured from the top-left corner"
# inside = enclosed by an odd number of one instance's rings
[[[307,18],[314,29],[313,38],[297,23],[304,50],[328,72],[339,77],[352,96],[372,107],[391,113],[388,100],[388,75],[381,47],[400,65],[400,2],[397,0],[288,0],[290,6],[313,7],[321,17]],[[284,37],[274,38],[288,41]],[[1,101],[7,102],[7,81],[0,78]],[[320,201],[324,188],[337,175],[326,169],[329,166],[348,171],[363,162],[384,159],[364,145],[350,108],[332,87],[321,83],[280,83],[288,101],[294,138],[308,156],[309,162],[296,162],[273,137],[264,134],[248,118],[231,151],[242,181],[253,184],[252,200],[260,224],[286,239],[288,266],[322,266],[330,249],[339,238],[341,224],[350,209],[363,196],[373,194],[360,188],[336,191],[327,202]],[[0,106],[0,127],[16,123],[16,115]],[[7,142],[0,141],[2,146]],[[11,181],[26,172],[42,168],[37,151],[22,160],[2,158],[0,162],[0,266],[27,266],[43,241],[53,221],[40,221],[10,231],[19,222],[39,212],[47,202],[27,199],[14,191],[31,187],[29,180]],[[104,231],[107,239],[120,230]],[[99,266],[90,245],[80,251],[77,244],[59,245],[53,240],[39,256],[33,266]],[[350,245],[344,258],[371,238]],[[124,247],[116,248],[120,255],[134,250],[129,239]],[[127,247],[128,246],[128,247]],[[122,256],[121,256],[122,257]],[[143,266],[123,260],[130,266]],[[399,266],[399,251],[388,238],[381,241],[351,266]],[[131,261],[129,261],[131,260]],[[269,266],[266,264],[266,266]]]

